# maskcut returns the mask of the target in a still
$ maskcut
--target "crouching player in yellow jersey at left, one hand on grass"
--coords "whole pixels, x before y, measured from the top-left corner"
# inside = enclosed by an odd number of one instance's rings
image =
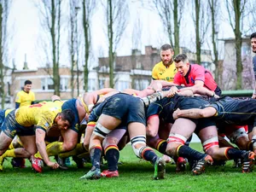
[[[40,102],[10,112],[6,119],[4,119],[1,127],[0,162],[3,162],[5,157],[31,157],[32,165],[38,165],[41,162],[33,162],[35,160],[33,154],[39,151],[47,166],[53,169],[58,168],[59,165],[57,163],[49,160],[44,137],[46,131],[52,125],[58,126],[60,130],[67,130],[72,125],[74,119],[73,112],[68,109],[61,111],[61,105],[62,102]],[[24,147],[7,150],[16,135],[20,137]],[[33,166],[33,168],[35,167]],[[1,164],[0,170],[3,170]]]

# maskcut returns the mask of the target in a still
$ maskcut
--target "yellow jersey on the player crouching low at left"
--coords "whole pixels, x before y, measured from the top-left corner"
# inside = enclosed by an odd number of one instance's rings
[[[62,102],[39,102],[16,109],[15,119],[22,126],[37,125],[46,131],[61,113]]]

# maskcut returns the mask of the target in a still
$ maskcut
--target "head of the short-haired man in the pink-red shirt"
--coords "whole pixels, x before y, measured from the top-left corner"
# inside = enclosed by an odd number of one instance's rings
[[[174,64],[177,69],[177,72],[182,76],[185,76],[189,71],[189,59],[185,54],[178,54],[174,58]]]

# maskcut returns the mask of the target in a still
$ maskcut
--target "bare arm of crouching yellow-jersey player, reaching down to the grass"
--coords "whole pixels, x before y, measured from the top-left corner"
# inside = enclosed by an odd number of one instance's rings
[[[56,169],[56,168],[59,167],[59,165],[57,163],[51,162],[49,160],[49,156],[48,156],[48,154],[46,152],[44,138],[45,138],[44,128],[42,128],[40,126],[37,126],[37,129],[36,129],[36,144],[37,144],[38,151],[41,154],[41,156],[42,156],[42,158],[44,160],[44,163],[47,166],[50,166],[51,168]]]

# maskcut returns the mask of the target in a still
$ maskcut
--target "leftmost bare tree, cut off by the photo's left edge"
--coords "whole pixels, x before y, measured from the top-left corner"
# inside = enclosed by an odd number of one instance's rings
[[[7,62],[8,55],[8,34],[7,26],[9,19],[9,9],[12,1],[1,0],[0,1],[0,95],[2,98],[1,107],[4,108],[5,103],[5,85],[4,85],[4,74],[6,66],[4,65]]]

